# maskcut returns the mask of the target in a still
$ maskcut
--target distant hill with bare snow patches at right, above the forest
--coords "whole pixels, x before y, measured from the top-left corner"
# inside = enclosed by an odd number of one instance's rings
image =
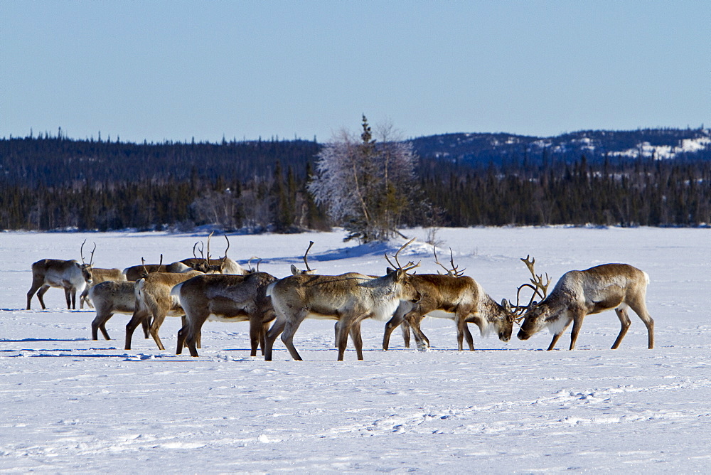
[[[710,129],[583,130],[556,137],[460,133],[412,139],[420,156],[486,166],[502,161],[539,163],[544,157],[572,162],[604,158],[711,159]]]

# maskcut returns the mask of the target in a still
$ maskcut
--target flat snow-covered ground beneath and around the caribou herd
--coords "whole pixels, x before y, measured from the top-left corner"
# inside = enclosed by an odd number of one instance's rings
[[[424,230],[407,230],[424,239]],[[230,257],[262,257],[277,277],[301,263],[309,240],[319,273],[383,272],[390,246],[344,244],[342,233],[232,236]],[[497,301],[528,280],[520,257],[555,282],[563,272],[627,262],[651,277],[648,309],[656,348],[631,314],[621,348],[614,312],[589,316],[574,351],[550,335],[503,343],[475,333],[476,351],[456,351],[451,321],[428,319],[432,351],[419,353],[383,323],[363,324],[365,361],[336,362],[333,322],[306,320],[292,361],[281,341],[274,361],[249,357],[247,324],[210,322],[199,358],[176,356],[179,319],[168,319],[159,351],[124,325],[91,341],[94,311],[25,311],[31,263],[79,259],[96,242],[95,266],[172,262],[204,235],[165,233],[0,234],[0,471],[148,473],[179,471],[566,470],[689,473],[711,464],[711,230],[599,228],[443,229],[456,263]],[[219,239],[213,239],[213,254]],[[427,245],[405,259],[437,272]],[[86,246],[85,246],[85,255]]]

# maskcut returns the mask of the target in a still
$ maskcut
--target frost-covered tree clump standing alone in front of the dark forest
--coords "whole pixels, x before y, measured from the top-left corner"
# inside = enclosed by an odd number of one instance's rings
[[[360,139],[343,130],[324,146],[309,192],[346,228],[346,240],[387,240],[412,206],[417,156],[412,144],[393,139],[390,125],[380,127],[380,142],[365,115],[362,128]]]

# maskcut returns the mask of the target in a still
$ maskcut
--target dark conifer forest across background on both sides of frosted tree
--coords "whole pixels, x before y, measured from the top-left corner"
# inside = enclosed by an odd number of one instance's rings
[[[0,139],[0,228],[324,230],[343,223],[314,200],[323,150],[299,140]],[[507,155],[488,165],[412,154],[413,169],[403,176],[412,181],[415,194],[407,199],[416,206],[404,210],[398,190],[385,188],[383,199],[395,203],[397,213],[381,215],[395,226],[711,223],[708,159],[589,161],[541,154]]]

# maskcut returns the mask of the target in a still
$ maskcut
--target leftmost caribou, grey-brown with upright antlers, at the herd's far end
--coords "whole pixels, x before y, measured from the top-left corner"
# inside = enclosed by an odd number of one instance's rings
[[[80,255],[82,263],[79,264],[76,260],[58,260],[58,259],[43,259],[32,264],[32,287],[27,292],[27,309],[30,309],[30,303],[35,292],[37,299],[40,301],[42,309],[46,309],[44,304],[44,294],[50,287],[58,287],[64,289],[64,294],[67,299],[67,309],[77,308],[77,292],[80,294],[84,291],[87,284],[92,282],[92,261],[94,259],[94,250],[91,252],[89,263],[84,262],[84,245],[86,240],[82,242]],[[39,290],[38,290],[39,289]]]

